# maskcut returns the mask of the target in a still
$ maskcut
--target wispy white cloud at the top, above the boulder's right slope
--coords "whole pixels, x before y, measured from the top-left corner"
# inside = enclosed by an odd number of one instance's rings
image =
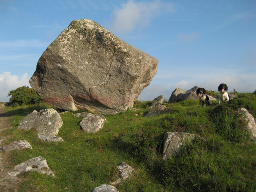
[[[173,4],[154,0],[150,3],[129,0],[122,8],[112,12],[110,31],[128,34],[136,27],[146,27],[160,12],[170,12]]]

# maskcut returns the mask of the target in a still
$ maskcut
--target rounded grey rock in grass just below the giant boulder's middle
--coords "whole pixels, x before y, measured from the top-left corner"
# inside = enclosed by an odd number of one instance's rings
[[[105,122],[107,122],[107,120],[103,115],[92,114],[83,118],[80,122],[80,126],[84,132],[96,133],[103,127]]]

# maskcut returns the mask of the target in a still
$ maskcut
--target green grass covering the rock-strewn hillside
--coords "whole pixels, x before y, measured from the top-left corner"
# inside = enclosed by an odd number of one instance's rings
[[[238,98],[226,104],[202,108],[198,101],[168,104],[159,116],[146,118],[152,101],[136,101],[124,113],[106,115],[104,128],[97,133],[84,133],[82,118],[70,112],[61,114],[64,122],[58,136],[64,142],[42,142],[36,131],[18,130],[18,123],[34,109],[50,106],[8,107],[12,129],[4,134],[6,142],[27,140],[33,150],[13,152],[13,166],[36,156],[47,160],[55,178],[36,172],[24,173],[26,180],[20,192],[87,192],[101,184],[109,184],[116,166],[126,162],[136,174],[116,188],[120,192],[183,192],[256,190],[256,144],[243,129],[238,107],[256,114],[254,94],[237,93]],[[136,116],[135,114],[138,114]],[[206,138],[182,147],[179,155],[162,160],[163,134],[168,131],[189,132]]]

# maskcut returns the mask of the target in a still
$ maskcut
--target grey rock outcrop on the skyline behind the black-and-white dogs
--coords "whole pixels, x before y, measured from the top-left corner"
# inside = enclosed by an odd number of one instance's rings
[[[198,95],[196,94],[198,88],[199,86],[197,85],[187,91],[184,91],[181,88],[176,88],[169,98],[169,103],[180,102],[183,100],[198,100]],[[213,98],[210,95],[208,95],[208,97],[210,100],[216,100],[216,98]]]

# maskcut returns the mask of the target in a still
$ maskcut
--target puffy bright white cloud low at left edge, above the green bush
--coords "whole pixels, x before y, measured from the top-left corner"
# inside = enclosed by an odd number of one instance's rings
[[[0,101],[8,102],[9,97],[7,94],[10,90],[14,90],[21,86],[30,86],[28,83],[28,74],[24,73],[22,76],[11,75],[10,72],[3,72],[0,74]]]

